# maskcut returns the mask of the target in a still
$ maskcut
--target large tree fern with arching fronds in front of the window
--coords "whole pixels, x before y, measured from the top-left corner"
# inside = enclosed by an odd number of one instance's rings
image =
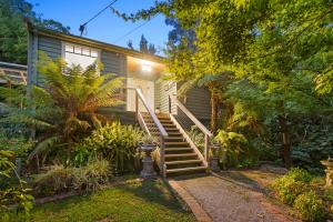
[[[40,56],[38,68],[42,77],[40,85],[46,87],[32,88],[34,110],[50,127],[43,131],[30,158],[52,154],[68,159],[72,143],[108,121],[98,109],[122,103],[119,89],[123,79],[100,75],[102,64],[82,70],[80,65],[68,67],[62,59],[54,62],[44,54]]]

